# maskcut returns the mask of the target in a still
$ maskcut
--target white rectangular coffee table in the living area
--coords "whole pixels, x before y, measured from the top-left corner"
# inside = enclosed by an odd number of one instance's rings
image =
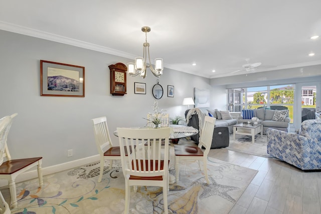
[[[254,143],[255,135],[261,133],[263,136],[263,124],[252,125],[248,123],[236,124],[233,126],[233,140],[235,141],[235,134],[252,136],[252,143]]]

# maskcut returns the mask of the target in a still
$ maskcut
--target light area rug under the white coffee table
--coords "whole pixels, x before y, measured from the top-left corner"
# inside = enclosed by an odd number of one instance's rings
[[[242,152],[249,155],[256,155],[260,157],[273,158],[273,156],[266,152],[266,135],[255,136],[255,142],[252,143],[252,136],[247,135],[235,135],[235,141],[233,140],[233,134],[230,135],[230,144],[225,149]]]

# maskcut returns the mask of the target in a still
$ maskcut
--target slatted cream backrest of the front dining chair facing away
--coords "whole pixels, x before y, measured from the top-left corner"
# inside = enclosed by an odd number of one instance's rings
[[[124,176],[167,176],[170,128],[117,128],[117,133]],[[165,148],[163,149],[161,142],[164,139]],[[139,145],[146,146],[137,149]],[[128,156],[125,156],[124,146],[127,149]]]

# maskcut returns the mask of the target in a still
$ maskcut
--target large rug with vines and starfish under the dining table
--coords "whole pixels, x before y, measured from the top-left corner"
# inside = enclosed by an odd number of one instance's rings
[[[124,177],[120,161],[98,183],[99,162],[44,176],[43,188],[33,179],[17,184],[18,208],[12,213],[123,213]],[[170,173],[175,174],[175,170]],[[210,184],[198,162],[181,161],[180,181],[170,185],[169,213],[228,213],[257,171],[209,158]],[[131,188],[129,213],[163,213],[163,190]]]

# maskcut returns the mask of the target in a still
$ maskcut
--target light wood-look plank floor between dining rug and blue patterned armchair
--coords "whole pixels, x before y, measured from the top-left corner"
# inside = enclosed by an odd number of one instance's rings
[[[321,213],[321,172],[227,149],[211,149],[209,157],[258,170],[230,214]]]

